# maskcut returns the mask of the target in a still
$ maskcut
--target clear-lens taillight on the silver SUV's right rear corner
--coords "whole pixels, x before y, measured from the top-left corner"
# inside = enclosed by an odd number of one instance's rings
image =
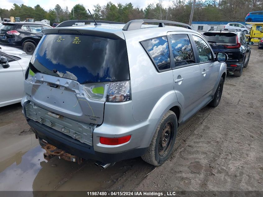
[[[123,102],[129,101],[130,98],[130,82],[110,82],[107,92],[107,102]]]

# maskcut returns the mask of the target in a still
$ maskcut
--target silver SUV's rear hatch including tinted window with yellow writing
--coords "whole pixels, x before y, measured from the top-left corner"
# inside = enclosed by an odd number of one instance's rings
[[[124,40],[92,35],[44,35],[29,64],[26,95],[49,112],[102,124],[110,82],[129,80]]]

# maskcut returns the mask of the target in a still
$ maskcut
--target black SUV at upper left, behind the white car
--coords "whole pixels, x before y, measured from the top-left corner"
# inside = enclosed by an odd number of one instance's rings
[[[0,27],[0,44],[23,49],[33,54],[43,34],[41,30],[52,28],[42,23],[7,22]]]

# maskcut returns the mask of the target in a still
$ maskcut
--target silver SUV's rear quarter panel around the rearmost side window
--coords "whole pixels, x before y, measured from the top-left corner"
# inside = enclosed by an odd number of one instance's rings
[[[158,73],[139,42],[166,36],[167,32],[161,28],[149,28],[144,29],[143,34],[141,32],[124,32],[129,59],[133,118],[160,119],[171,107],[180,106],[174,91],[173,72],[169,70]]]

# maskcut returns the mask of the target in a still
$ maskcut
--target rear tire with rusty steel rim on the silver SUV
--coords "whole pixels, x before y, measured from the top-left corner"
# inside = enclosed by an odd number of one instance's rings
[[[176,133],[177,118],[175,113],[169,110],[159,123],[148,150],[141,156],[143,161],[153,166],[162,165],[171,155]]]

